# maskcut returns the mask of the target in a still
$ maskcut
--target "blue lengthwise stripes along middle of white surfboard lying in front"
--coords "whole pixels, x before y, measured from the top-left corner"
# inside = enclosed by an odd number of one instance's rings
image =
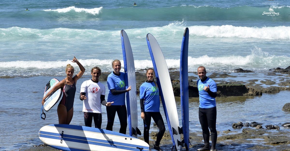
[[[39,137],[60,140],[61,134],[39,131]],[[68,135],[68,134],[63,135],[63,141],[92,144],[92,145],[99,145],[99,146],[105,146],[105,147],[111,147],[112,145],[114,145],[116,146],[115,148],[125,149],[125,150],[131,150],[132,148],[137,147],[136,144],[114,142],[114,141],[108,141],[108,140],[103,140],[103,139],[93,139],[93,138],[80,137],[80,136]],[[138,145],[138,147],[146,148],[146,146],[141,146],[141,145]]]

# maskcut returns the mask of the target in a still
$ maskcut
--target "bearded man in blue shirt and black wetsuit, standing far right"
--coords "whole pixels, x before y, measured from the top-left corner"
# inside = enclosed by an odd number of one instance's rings
[[[211,78],[206,77],[206,70],[203,66],[197,68],[197,88],[189,86],[190,90],[199,93],[200,105],[198,116],[202,128],[204,147],[198,150],[216,151],[215,145],[218,134],[216,130],[217,108],[215,97],[217,96],[217,84]],[[211,148],[209,145],[209,130],[211,131]]]

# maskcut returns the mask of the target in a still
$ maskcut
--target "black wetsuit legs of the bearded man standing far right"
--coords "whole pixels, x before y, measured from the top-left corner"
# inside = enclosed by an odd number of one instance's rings
[[[217,108],[199,108],[198,116],[202,128],[204,144],[209,144],[209,130],[211,131],[211,147],[215,148],[218,134],[215,128],[217,119]]]

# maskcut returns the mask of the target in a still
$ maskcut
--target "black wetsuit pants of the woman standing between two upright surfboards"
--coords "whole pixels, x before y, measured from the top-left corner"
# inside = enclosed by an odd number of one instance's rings
[[[149,144],[149,129],[151,124],[151,117],[153,118],[154,122],[157,124],[159,132],[157,134],[157,138],[155,144],[159,146],[160,141],[163,137],[165,132],[164,121],[160,112],[144,112],[145,119],[143,120],[144,123],[144,141]]]

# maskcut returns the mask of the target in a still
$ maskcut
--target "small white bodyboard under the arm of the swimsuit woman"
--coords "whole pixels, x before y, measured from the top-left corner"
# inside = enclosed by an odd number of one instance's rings
[[[46,94],[52,90],[52,88],[59,83],[59,81],[56,78],[51,79],[45,87],[45,91],[44,91],[44,96],[46,96]],[[53,92],[50,96],[48,96],[46,98],[46,101],[43,104],[44,110],[47,112],[49,111],[60,99],[62,94],[61,89],[59,88],[58,90],[56,90],[55,92]]]

